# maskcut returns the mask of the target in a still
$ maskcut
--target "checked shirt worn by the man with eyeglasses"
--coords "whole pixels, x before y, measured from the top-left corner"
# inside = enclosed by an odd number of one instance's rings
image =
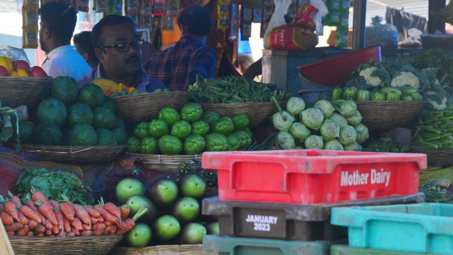
[[[90,73],[82,77],[80,80],[77,81],[79,84],[79,87],[82,87],[84,84],[90,83],[92,80],[97,79],[97,78],[104,78],[104,75],[101,73],[101,63],[93,69]],[[141,74],[141,82],[137,84],[137,87],[135,89],[138,90],[138,92],[142,92],[144,90],[148,92],[153,92],[155,89],[158,88],[165,88],[164,83],[162,83],[159,80],[156,80],[155,78],[149,77],[148,74],[145,73],[145,70],[143,68],[140,68],[140,74]]]

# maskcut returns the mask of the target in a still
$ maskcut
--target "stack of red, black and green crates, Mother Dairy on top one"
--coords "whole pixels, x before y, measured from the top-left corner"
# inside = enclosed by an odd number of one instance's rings
[[[203,200],[202,214],[219,219],[220,236],[203,239],[219,255],[328,255],[347,242],[330,223],[334,207],[424,202],[423,154],[205,152],[202,167],[218,171],[219,197]]]

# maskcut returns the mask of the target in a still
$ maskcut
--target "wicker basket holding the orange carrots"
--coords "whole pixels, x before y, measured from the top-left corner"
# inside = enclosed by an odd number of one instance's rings
[[[9,236],[9,239],[17,255],[105,255],[123,239],[123,236]]]

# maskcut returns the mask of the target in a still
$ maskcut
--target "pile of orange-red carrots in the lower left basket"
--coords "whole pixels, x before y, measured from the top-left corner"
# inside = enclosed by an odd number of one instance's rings
[[[34,191],[23,205],[18,196],[1,197],[0,218],[8,235],[28,236],[95,236],[123,235],[135,226],[135,221],[148,211],[142,207],[133,218],[130,208],[113,203],[81,206],[70,201],[62,204],[47,200]]]

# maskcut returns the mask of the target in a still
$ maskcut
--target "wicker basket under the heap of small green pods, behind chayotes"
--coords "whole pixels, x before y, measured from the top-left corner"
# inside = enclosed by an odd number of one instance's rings
[[[286,105],[286,101],[279,102],[281,106]],[[246,114],[249,118],[249,127],[258,127],[274,113],[276,107],[274,103],[201,103],[203,111],[214,111],[220,116],[233,117],[237,114]]]

